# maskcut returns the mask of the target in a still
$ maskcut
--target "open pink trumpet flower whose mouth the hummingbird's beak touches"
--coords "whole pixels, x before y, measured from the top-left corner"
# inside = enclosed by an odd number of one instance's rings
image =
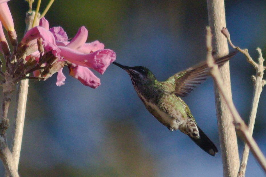
[[[51,30],[51,29],[50,29]],[[55,33],[53,29],[53,33],[58,38],[64,34],[60,28],[60,33]],[[65,41],[67,39],[67,35],[63,35],[65,37]],[[60,55],[65,60],[70,61],[76,65],[81,65],[85,67],[90,67],[99,73],[103,74],[106,68],[116,59],[116,54],[114,51],[110,49],[104,49],[104,45],[99,41],[94,41],[92,43],[85,43],[88,37],[88,30],[82,26],[76,36],[69,42],[63,43],[64,40],[60,40],[62,43],[57,43],[58,48],[61,50]],[[60,37],[60,39],[62,39]],[[66,44],[66,45],[65,45]]]

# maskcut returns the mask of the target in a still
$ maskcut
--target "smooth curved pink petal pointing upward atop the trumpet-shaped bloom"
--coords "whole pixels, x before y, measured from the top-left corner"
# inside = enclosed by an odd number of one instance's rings
[[[88,38],[88,30],[84,26],[82,26],[78,30],[75,37],[67,45],[67,47],[71,49],[77,49],[78,47],[81,47],[82,45],[85,44],[85,42],[87,41],[87,38]]]

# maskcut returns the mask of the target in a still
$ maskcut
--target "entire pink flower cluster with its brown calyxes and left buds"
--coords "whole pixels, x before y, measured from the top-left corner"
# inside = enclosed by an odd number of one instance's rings
[[[72,77],[86,86],[97,88],[100,79],[89,69],[103,74],[106,68],[116,59],[116,53],[104,49],[99,41],[86,43],[88,30],[82,26],[76,36],[68,41],[68,36],[61,27],[49,28],[48,21],[43,17],[39,26],[33,27],[17,44],[14,23],[9,11],[8,0],[0,0],[0,21],[8,31],[11,45],[14,47],[11,55],[7,40],[0,27],[0,51],[7,60],[7,71],[13,81],[24,78],[46,80],[57,72],[57,86],[64,85],[65,76],[62,69],[67,66]],[[5,76],[6,76],[5,73]],[[33,77],[28,77],[33,73]]]

